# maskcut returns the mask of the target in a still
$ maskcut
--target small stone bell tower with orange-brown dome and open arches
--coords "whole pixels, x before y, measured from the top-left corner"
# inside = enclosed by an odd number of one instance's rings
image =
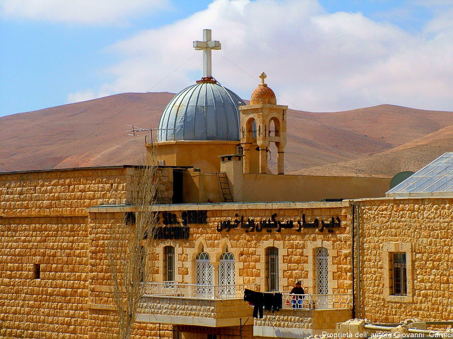
[[[269,143],[277,146],[277,174],[284,174],[284,148],[286,146],[286,110],[277,105],[274,91],[260,74],[261,83],[253,91],[249,105],[239,106],[241,111],[241,146],[244,149],[244,173],[250,173],[251,146],[257,143],[260,152],[260,173],[267,173]]]

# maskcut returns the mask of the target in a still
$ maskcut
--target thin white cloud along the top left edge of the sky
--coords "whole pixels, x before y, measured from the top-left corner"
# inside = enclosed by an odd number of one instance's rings
[[[168,0],[1,0],[4,17],[75,24],[125,24],[127,19],[167,8]]]

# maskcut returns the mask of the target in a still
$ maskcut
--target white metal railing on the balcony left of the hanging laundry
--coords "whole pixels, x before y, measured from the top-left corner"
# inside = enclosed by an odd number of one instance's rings
[[[196,299],[243,298],[245,289],[256,290],[256,284],[241,285],[195,285],[172,281],[146,284],[145,297],[177,297]]]

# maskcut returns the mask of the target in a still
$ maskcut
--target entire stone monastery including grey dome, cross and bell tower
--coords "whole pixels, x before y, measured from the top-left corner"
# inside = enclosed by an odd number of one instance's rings
[[[220,47],[209,30],[196,43]],[[453,317],[453,197],[381,198],[389,178],[268,174],[269,143],[284,173],[287,107],[264,73],[250,105],[208,74],[169,103],[157,150],[146,144],[159,221],[132,337],[299,338],[354,317]],[[0,173],[0,336],[112,336],[109,240],[134,212],[135,171]],[[296,281],[304,296],[289,293]],[[282,308],[254,317],[246,289],[282,293]]]

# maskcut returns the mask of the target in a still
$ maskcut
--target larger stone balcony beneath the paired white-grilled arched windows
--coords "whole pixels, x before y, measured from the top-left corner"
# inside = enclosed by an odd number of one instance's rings
[[[194,285],[148,283],[137,321],[208,327],[237,326],[252,316],[245,289],[255,284]]]

